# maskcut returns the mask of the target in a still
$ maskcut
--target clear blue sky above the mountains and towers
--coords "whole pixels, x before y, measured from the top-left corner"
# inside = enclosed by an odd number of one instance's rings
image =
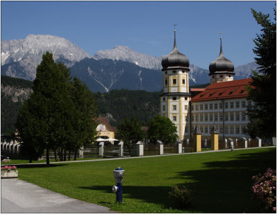
[[[116,45],[148,55],[177,47],[204,69],[220,53],[235,66],[253,62],[260,26],[251,8],[274,18],[276,1],[1,1],[1,40],[56,35],[93,55]]]

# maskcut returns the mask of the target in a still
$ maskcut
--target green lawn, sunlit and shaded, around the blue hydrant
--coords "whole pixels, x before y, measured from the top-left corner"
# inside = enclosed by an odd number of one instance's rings
[[[111,193],[113,170],[125,170],[123,204]],[[19,179],[122,213],[256,213],[251,177],[276,169],[276,148],[80,163],[19,166]],[[189,182],[187,210],[170,207],[170,187]]]

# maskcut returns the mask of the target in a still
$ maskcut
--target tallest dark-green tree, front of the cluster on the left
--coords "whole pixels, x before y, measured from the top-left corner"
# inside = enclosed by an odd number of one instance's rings
[[[30,148],[33,145],[46,149],[47,165],[49,150],[68,146],[70,134],[74,132],[71,118],[75,114],[75,106],[69,93],[69,80],[69,69],[63,64],[56,64],[51,53],[45,53],[37,66],[33,93],[17,117],[22,152],[32,157]]]

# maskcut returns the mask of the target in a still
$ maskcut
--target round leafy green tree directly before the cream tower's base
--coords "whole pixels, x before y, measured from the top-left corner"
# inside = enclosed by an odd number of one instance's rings
[[[175,143],[178,139],[177,127],[169,118],[157,115],[148,125],[148,138],[151,143]]]

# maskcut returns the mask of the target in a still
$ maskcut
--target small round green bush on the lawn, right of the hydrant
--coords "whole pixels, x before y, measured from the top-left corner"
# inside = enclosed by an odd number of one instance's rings
[[[168,195],[172,200],[172,205],[177,208],[186,208],[193,202],[193,190],[190,190],[186,184],[180,187],[172,186]]]

